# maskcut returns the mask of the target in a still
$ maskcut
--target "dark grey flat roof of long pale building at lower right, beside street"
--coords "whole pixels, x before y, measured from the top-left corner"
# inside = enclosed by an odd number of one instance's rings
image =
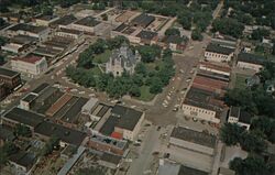
[[[174,128],[170,136],[212,149],[216,146],[217,141],[217,138],[213,135],[210,135],[205,132],[186,129],[183,127]]]

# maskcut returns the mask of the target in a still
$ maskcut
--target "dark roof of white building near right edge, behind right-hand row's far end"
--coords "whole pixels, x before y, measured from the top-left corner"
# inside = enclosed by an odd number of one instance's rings
[[[240,53],[238,55],[238,62],[245,62],[245,63],[252,63],[257,65],[263,65],[266,59],[264,56],[250,54],[250,53]]]

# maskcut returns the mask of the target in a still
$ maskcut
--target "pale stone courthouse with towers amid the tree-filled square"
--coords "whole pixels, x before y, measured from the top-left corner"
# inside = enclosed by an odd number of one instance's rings
[[[112,73],[113,76],[121,76],[123,72],[132,75],[141,56],[136,51],[135,54],[124,43],[120,50],[113,51],[109,62],[106,64],[106,73]]]

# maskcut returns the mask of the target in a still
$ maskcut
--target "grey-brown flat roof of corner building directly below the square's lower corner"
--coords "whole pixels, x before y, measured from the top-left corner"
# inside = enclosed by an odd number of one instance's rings
[[[143,112],[116,105],[112,109],[112,114],[119,116],[119,122],[116,127],[132,131],[140,121]]]

